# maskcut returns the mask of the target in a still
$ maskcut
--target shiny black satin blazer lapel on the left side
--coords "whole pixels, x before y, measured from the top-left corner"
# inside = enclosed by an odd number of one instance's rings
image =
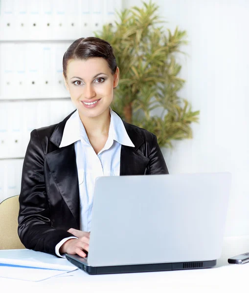
[[[65,124],[72,114],[73,113],[55,128],[50,137],[50,141],[58,148],[56,150],[54,150],[54,148],[51,149],[51,152],[48,152],[45,157],[53,179],[64,201],[68,205],[79,229],[80,202],[74,144],[59,148]]]

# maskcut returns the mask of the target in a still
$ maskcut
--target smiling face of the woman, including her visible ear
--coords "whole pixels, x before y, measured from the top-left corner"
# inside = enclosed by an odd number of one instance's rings
[[[80,116],[93,118],[109,111],[118,79],[119,69],[113,75],[103,58],[71,59],[65,85]]]

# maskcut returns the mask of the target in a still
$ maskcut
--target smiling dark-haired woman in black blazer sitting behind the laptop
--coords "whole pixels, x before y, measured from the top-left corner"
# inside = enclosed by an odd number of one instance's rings
[[[85,257],[95,178],[168,170],[156,136],[125,123],[110,108],[119,68],[108,42],[73,42],[63,57],[63,76],[77,109],[30,134],[18,233],[28,249]]]

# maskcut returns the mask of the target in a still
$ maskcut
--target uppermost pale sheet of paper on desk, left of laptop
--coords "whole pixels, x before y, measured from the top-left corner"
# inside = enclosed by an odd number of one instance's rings
[[[1,250],[0,264],[54,269],[61,271],[72,271],[76,268],[66,258],[26,249]]]

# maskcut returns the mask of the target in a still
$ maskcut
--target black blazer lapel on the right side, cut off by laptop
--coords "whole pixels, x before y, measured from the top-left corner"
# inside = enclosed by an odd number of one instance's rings
[[[144,143],[144,140],[128,123],[124,121],[123,123],[135,147],[121,146],[120,175],[143,175],[149,159],[139,153],[137,149]]]

